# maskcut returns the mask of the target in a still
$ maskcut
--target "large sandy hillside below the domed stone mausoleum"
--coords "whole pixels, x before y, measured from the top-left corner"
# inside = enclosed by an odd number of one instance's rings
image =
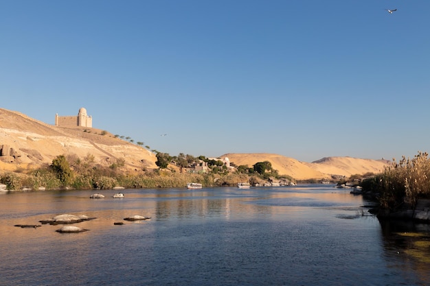
[[[27,169],[61,154],[91,154],[98,163],[111,165],[119,158],[129,169],[156,168],[155,155],[144,147],[95,128],[60,128],[20,112],[0,108],[0,169]],[[10,155],[10,156],[8,156]]]

